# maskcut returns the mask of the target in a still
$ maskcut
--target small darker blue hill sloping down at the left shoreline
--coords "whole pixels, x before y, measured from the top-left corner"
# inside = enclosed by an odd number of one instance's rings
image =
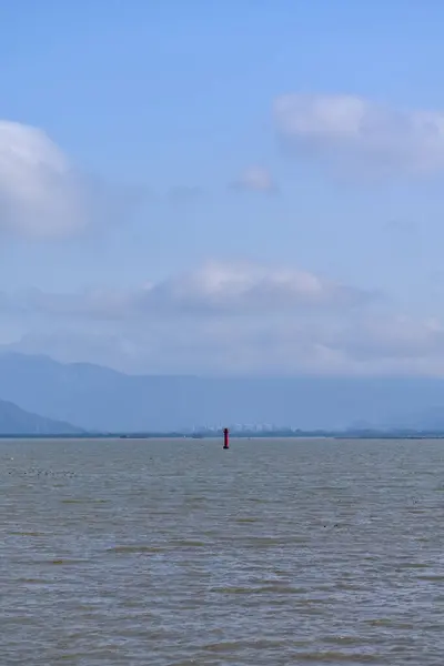
[[[74,435],[81,428],[26,412],[8,401],[0,401],[0,435]]]

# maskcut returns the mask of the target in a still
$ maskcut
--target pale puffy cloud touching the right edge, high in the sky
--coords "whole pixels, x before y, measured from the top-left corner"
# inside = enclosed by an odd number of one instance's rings
[[[444,170],[444,111],[396,109],[347,94],[287,94],[275,100],[283,140],[335,162],[383,172]],[[337,164],[336,164],[337,165]]]

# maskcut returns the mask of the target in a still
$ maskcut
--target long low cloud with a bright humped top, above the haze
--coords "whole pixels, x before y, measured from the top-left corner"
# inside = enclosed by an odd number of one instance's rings
[[[346,310],[375,294],[297,269],[251,262],[208,262],[195,270],[137,290],[91,290],[58,294],[29,290],[9,300],[22,312],[48,315],[127,319],[292,314]],[[3,296],[4,299],[4,296]],[[1,300],[0,300],[1,306]]]

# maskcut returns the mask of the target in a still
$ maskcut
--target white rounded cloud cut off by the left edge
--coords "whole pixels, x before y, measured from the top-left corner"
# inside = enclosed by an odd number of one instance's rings
[[[41,130],[0,121],[0,233],[63,239],[124,219],[145,194],[79,172]]]

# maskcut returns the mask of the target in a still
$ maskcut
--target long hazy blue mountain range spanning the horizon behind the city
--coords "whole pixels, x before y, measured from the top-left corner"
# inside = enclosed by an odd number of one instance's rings
[[[87,363],[0,353],[0,398],[98,431],[172,431],[235,423],[302,430],[422,424],[444,381],[406,377],[127,375]]]

